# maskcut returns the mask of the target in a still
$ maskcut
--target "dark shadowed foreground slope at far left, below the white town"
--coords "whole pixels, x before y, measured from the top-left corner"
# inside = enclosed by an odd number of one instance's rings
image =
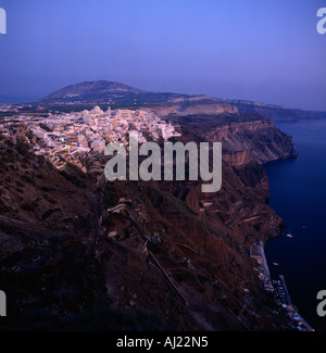
[[[67,312],[105,303],[91,253],[101,202],[87,179],[35,155],[26,134],[0,134],[0,283],[8,297],[0,327],[43,330]]]

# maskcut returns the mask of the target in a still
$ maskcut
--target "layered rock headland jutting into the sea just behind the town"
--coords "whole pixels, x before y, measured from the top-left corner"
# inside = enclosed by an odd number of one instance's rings
[[[190,138],[222,142],[224,160],[239,165],[255,161],[296,157],[292,137],[281,133],[268,118],[259,115],[230,114],[221,116],[188,116],[172,118],[186,129]],[[191,131],[192,129],[192,131]]]

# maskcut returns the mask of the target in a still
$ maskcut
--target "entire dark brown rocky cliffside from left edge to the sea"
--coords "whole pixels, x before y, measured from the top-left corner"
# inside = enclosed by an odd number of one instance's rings
[[[250,259],[278,234],[264,162],[296,156],[258,115],[173,117],[183,141],[222,141],[223,187],[104,181],[0,137],[0,283],[9,330],[286,330]],[[113,211],[116,205],[122,205]]]

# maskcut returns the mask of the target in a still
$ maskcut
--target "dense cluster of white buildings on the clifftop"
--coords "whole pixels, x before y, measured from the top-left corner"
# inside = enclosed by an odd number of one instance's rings
[[[167,141],[180,136],[172,124],[141,110],[102,111],[95,106],[91,111],[68,114],[50,113],[47,117],[15,115],[4,117],[0,131],[13,136],[17,126],[25,126],[39,143],[34,144],[36,155],[45,155],[58,169],[63,169],[66,162],[73,163],[84,173],[87,172],[82,161],[91,152],[104,153],[105,144],[120,142],[128,146],[128,133],[137,131],[139,143]]]

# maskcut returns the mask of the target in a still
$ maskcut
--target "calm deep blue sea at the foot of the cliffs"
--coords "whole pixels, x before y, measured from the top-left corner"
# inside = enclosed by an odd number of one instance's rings
[[[266,257],[272,277],[285,275],[300,314],[316,330],[326,331],[326,317],[316,313],[317,292],[326,290],[326,118],[276,125],[293,136],[299,155],[266,165],[269,204],[293,238],[271,240]]]

